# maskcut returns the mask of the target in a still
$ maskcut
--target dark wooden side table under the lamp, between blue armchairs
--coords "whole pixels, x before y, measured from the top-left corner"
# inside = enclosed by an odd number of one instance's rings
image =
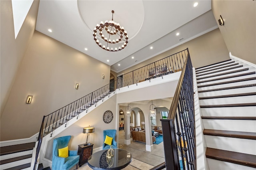
[[[92,147],[93,144],[80,144],[78,145],[78,155],[80,155],[79,158],[79,166],[82,166],[82,164],[85,164],[88,161],[88,158],[92,155]]]

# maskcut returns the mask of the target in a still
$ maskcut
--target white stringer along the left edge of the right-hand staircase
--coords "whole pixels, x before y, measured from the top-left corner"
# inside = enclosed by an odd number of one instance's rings
[[[204,124],[202,122],[201,116],[202,112],[199,105],[199,96],[196,83],[196,71],[193,67],[193,85],[194,85],[194,112],[195,112],[195,127],[196,127],[196,169],[206,170],[209,169],[206,162],[206,144],[204,139]],[[204,164],[202,164],[204,162]]]

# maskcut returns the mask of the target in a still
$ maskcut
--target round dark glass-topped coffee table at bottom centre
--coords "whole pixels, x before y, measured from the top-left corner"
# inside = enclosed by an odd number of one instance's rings
[[[106,158],[108,149],[100,150],[88,158],[88,166],[93,170],[120,170],[128,166],[132,161],[132,154],[127,150],[113,149],[111,158]]]

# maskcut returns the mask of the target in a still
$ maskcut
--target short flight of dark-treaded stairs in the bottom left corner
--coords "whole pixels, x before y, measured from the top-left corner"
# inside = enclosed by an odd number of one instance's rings
[[[0,147],[0,169],[30,169],[33,148],[36,142]]]

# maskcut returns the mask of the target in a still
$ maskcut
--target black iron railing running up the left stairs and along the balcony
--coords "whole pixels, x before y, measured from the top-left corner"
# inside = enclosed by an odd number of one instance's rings
[[[187,54],[188,49],[185,49],[155,61],[154,63],[150,63],[144,67],[140,67],[134,71],[121,75],[117,80],[112,81],[100,89],[97,89],[96,91],[93,91],[92,93],[58,109],[57,111],[44,116],[38,136],[39,143],[36,155],[38,156],[41,141],[44,136],[47,134],[52,136],[52,132],[61,125],[65,125],[66,127],[66,124],[70,119],[74,117],[77,117],[76,119],[78,119],[80,113],[83,111],[87,112],[88,108],[93,105],[96,107],[98,101],[104,99],[104,97],[110,95],[112,92],[115,93],[118,88],[181,71]]]

